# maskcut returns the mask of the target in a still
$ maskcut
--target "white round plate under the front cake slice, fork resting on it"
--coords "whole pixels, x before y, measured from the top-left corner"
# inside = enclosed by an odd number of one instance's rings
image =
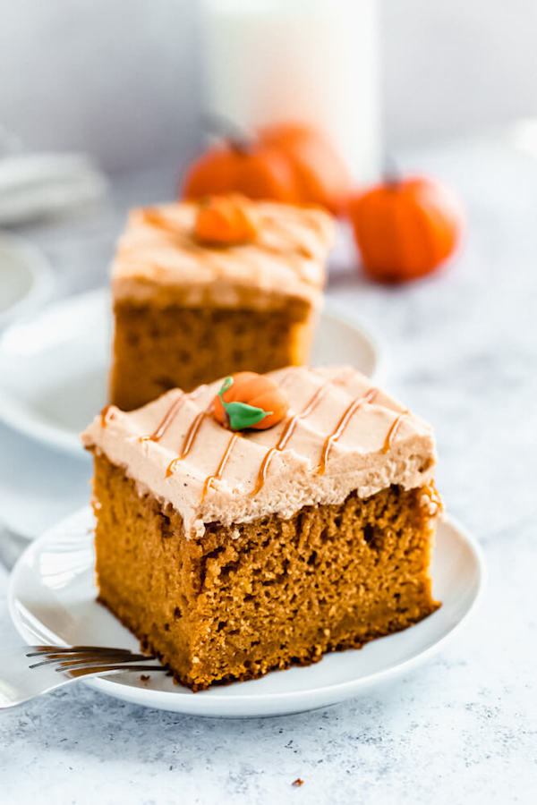
[[[10,613],[30,644],[138,648],[131,632],[96,601],[92,527],[90,509],[82,509],[30,545],[16,564],[8,590]],[[149,682],[122,671],[85,684],[116,699],[198,716],[281,716],[327,707],[429,659],[473,610],[483,575],[473,538],[445,521],[432,558],[433,591],[442,606],[410,629],[373,640],[360,651],[329,654],[316,665],[195,694],[160,672],[151,674]]]

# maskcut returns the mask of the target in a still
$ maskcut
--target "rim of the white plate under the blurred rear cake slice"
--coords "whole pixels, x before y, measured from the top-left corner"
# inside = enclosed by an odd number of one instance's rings
[[[50,315],[51,312],[55,310],[60,311],[61,314],[63,311],[70,308],[78,308],[81,310],[88,309],[89,307],[97,309],[99,306],[104,308],[107,304],[111,304],[108,289],[98,288],[97,290],[79,293],[55,301],[52,305],[40,309],[39,316]],[[362,326],[362,323],[354,321],[348,315],[345,315],[345,313],[338,308],[337,304],[331,301],[326,301],[320,312],[320,316],[330,322],[343,323],[345,326],[354,330],[354,333],[359,335],[364,343],[368,343],[374,360],[374,369],[371,374],[371,379],[375,379],[377,382],[384,380],[387,366],[386,347],[380,336],[377,333],[373,334],[370,326]],[[0,333],[0,355],[4,349],[4,342],[13,338],[13,334],[16,334],[18,327],[29,323],[28,319],[15,321]],[[10,428],[13,428],[24,436],[30,436],[41,444],[48,445],[55,450],[69,453],[78,458],[84,458],[84,451],[78,436],[75,436],[72,431],[67,428],[47,424],[47,422],[42,422],[32,416],[31,413],[21,408],[17,397],[3,389],[2,386],[0,386],[0,420],[4,421]]]

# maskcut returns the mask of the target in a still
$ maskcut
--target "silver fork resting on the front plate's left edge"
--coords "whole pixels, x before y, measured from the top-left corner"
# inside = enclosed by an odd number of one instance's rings
[[[139,661],[145,660],[143,665]],[[150,665],[152,660],[155,665]],[[13,708],[83,676],[119,671],[166,671],[156,657],[127,648],[99,646],[19,646],[0,654],[0,710]]]

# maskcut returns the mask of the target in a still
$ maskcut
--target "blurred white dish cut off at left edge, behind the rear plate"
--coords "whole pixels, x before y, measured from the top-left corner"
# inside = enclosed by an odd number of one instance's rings
[[[0,232],[0,329],[47,301],[52,271],[31,243]]]

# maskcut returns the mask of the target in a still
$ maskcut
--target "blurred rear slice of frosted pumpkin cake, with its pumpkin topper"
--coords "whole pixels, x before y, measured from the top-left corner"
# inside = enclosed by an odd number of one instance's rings
[[[307,363],[332,216],[237,196],[133,209],[112,267],[110,401]]]

